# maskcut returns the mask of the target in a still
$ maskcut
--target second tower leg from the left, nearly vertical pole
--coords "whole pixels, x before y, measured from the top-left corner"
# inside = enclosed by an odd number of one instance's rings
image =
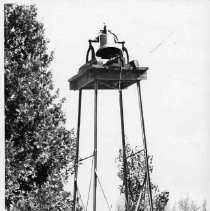
[[[95,81],[95,96],[94,96],[94,180],[93,180],[93,211],[96,211],[96,188],[97,188],[97,95],[98,81]]]

